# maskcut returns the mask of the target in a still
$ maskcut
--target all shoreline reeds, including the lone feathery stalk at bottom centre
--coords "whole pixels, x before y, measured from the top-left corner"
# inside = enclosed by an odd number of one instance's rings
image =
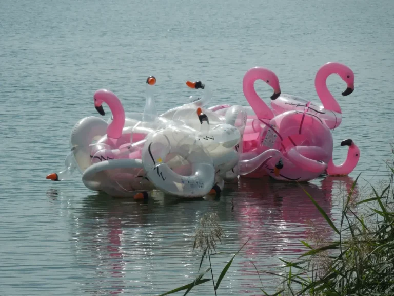
[[[394,146],[391,145],[394,155]],[[324,242],[318,234],[311,235],[308,242],[301,243],[308,249],[297,261],[289,262],[279,258],[283,266],[278,272],[259,270],[254,263],[256,289],[262,295],[394,295],[394,165],[386,162],[388,177],[378,186],[369,184],[370,193],[365,198],[356,198],[354,188],[360,175],[353,182],[350,192],[343,198],[343,209],[339,226],[334,225],[325,211],[308,192],[313,205],[319,210],[338,239]],[[302,184],[299,184],[302,187]],[[363,211],[356,213],[362,205]],[[200,219],[200,226],[194,235],[193,250],[202,252],[200,268],[204,260],[209,268],[201,272],[191,283],[173,289],[160,296],[173,293],[187,295],[193,287],[204,284],[207,294],[221,294],[220,284],[244,245],[223,267],[222,272],[213,274],[211,256],[216,243],[222,242],[224,232],[217,222],[218,216],[206,213]],[[277,291],[268,294],[260,274],[273,275],[281,280]],[[210,283],[211,282],[211,283]],[[222,293],[223,294],[223,293]]]

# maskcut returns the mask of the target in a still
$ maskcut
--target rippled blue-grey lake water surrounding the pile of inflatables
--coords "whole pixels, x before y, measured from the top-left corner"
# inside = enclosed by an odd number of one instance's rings
[[[96,89],[111,89],[127,112],[142,112],[144,83],[154,75],[163,112],[195,95],[186,80],[202,80],[214,91],[211,105],[246,106],[242,78],[264,66],[277,73],[283,93],[316,101],[318,68],[339,61],[354,71],[356,90],[342,97],[346,85],[328,79],[343,112],[332,134],[334,160],[345,159],[340,142],[351,138],[360,162],[349,177],[304,185],[336,220],[339,192],[358,174],[360,186],[386,175],[394,135],[393,19],[392,0],[2,0],[0,295],[155,295],[187,284],[201,257],[192,235],[208,211],[226,234],[218,251],[234,253],[251,238],[218,294],[261,294],[251,262],[274,271],[278,258],[296,258],[310,221],[327,239],[333,235],[297,184],[241,179],[220,198],[156,194],[136,202],[89,191],[78,173],[64,182],[45,176],[63,169],[74,123],[99,116]],[[262,81],[256,88],[269,102],[271,88]],[[215,279],[230,257],[212,257]],[[261,276],[274,292],[278,280]],[[211,288],[203,284],[192,294],[212,295]]]

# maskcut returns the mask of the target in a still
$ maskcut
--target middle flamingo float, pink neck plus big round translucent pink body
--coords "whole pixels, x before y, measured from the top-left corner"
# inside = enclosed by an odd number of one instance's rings
[[[279,173],[275,170],[278,166],[268,161],[262,170],[247,174],[246,177],[259,178],[265,173],[286,181],[306,181],[318,177],[326,171],[332,157],[329,129],[317,116],[307,114],[309,105],[303,112],[290,111],[274,116],[254,90],[257,79],[264,80],[273,88],[271,98],[279,97],[281,91],[279,79],[272,71],[254,67],[246,72],[243,90],[257,119],[249,120],[245,128],[244,152],[255,157],[267,149],[277,149],[284,156],[283,168]]]

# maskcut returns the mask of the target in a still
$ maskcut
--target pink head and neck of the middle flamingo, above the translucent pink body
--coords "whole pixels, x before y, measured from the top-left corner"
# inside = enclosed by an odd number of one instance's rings
[[[274,117],[272,110],[259,97],[254,89],[254,82],[258,79],[268,83],[273,88],[275,94],[280,94],[279,79],[274,72],[266,68],[254,67],[246,72],[242,82],[245,98],[252,107],[257,118],[272,119]]]

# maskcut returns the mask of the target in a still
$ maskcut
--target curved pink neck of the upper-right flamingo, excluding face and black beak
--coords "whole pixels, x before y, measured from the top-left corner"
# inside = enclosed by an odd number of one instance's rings
[[[332,96],[327,87],[327,78],[331,74],[337,74],[341,78],[345,73],[352,72],[351,69],[341,63],[331,62],[323,65],[314,79],[316,92],[323,103],[324,108],[334,112],[342,113],[341,107],[337,100]]]

